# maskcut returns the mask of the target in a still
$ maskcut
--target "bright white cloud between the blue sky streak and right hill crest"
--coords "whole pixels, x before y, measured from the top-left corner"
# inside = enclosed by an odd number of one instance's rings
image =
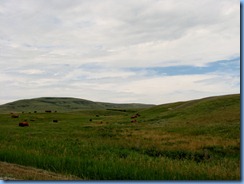
[[[225,74],[153,77],[121,84],[116,90],[133,94],[134,101],[155,104],[240,92],[238,78]]]

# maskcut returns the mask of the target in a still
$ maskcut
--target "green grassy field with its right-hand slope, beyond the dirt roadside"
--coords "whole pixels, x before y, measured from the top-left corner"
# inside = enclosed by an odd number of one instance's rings
[[[18,126],[24,120],[29,127]],[[2,113],[0,132],[0,161],[85,180],[240,180],[240,95],[143,109]]]

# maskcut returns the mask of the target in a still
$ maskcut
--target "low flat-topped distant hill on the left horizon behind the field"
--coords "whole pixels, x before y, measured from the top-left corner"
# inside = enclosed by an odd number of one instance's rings
[[[116,103],[104,103],[93,102],[90,100],[84,100],[79,98],[63,98],[63,97],[42,97],[34,99],[24,99],[14,102],[10,102],[4,105],[0,105],[0,113],[10,112],[44,112],[45,110],[69,112],[79,110],[91,110],[91,109],[140,109],[148,108],[154,105],[149,104],[116,104]]]

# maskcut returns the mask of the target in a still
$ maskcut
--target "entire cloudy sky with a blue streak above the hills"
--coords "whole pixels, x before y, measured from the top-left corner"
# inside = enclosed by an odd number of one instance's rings
[[[239,0],[0,0],[0,104],[240,93]]]

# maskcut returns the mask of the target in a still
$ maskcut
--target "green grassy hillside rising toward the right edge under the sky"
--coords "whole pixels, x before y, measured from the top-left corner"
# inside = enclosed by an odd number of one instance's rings
[[[192,118],[201,115],[208,117],[218,112],[224,116],[228,113],[240,114],[240,105],[240,94],[233,94],[157,105],[141,110],[141,112],[148,117],[158,117],[161,120],[173,117]]]

